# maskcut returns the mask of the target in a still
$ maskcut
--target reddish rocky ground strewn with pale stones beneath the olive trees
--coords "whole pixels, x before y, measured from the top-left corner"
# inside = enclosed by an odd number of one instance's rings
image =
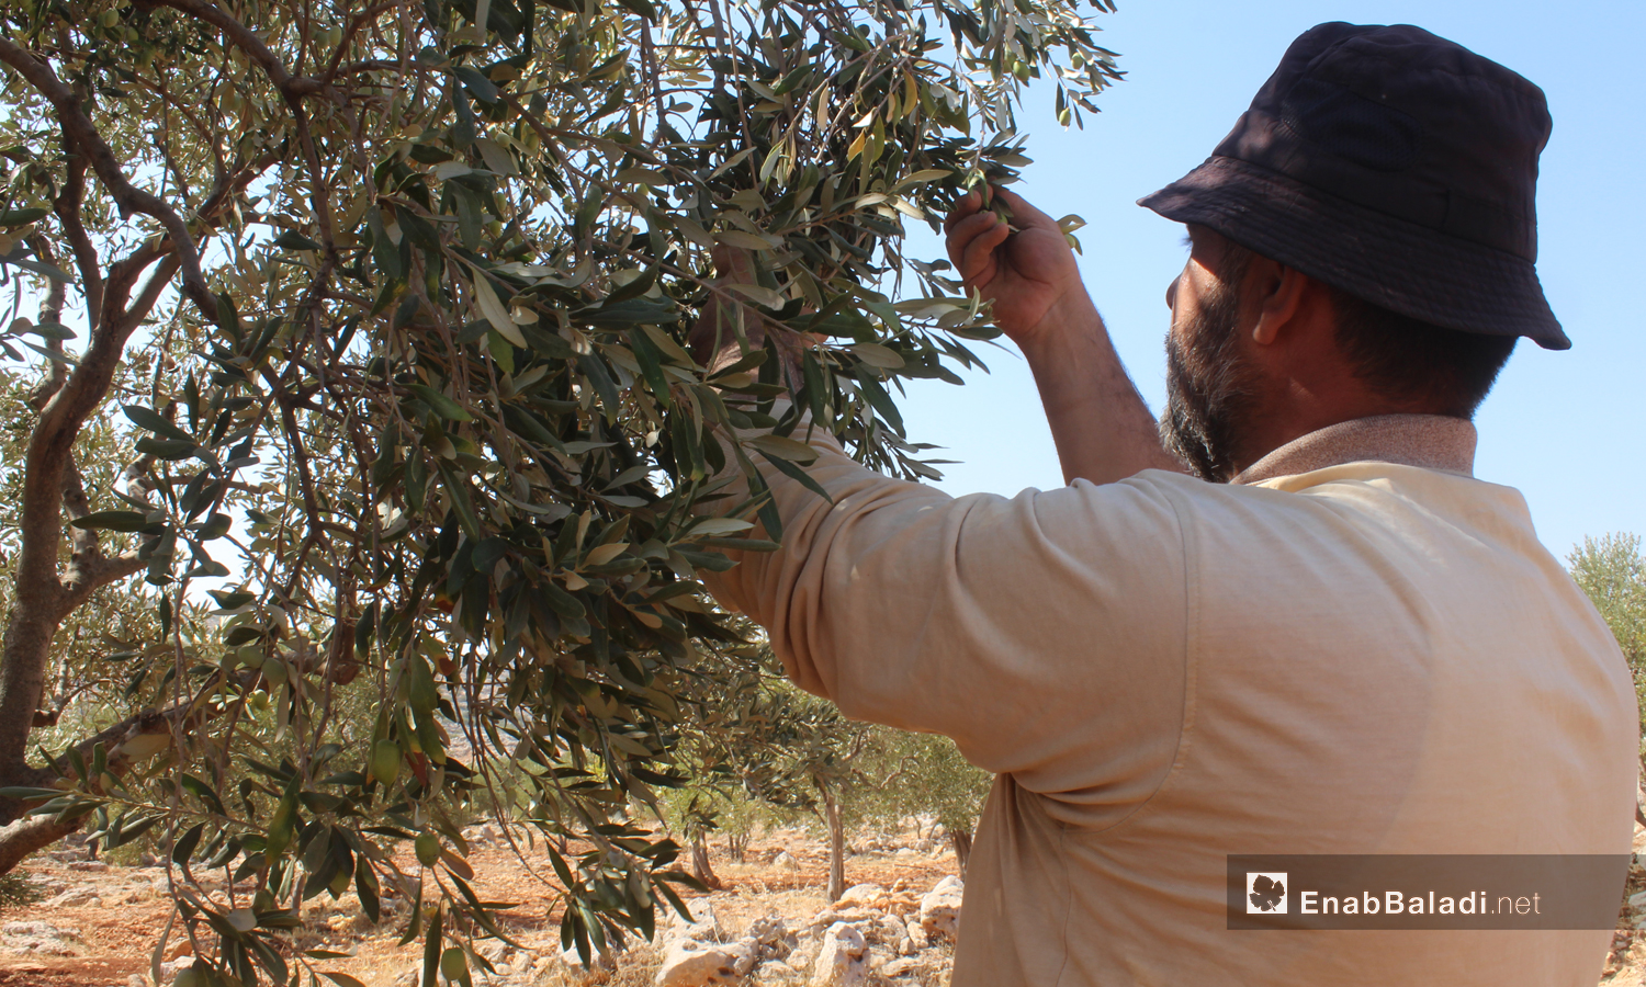
[[[798,831],[757,839],[744,862],[716,847],[724,888],[690,898],[695,923],[670,920],[655,944],[634,944],[614,962],[584,969],[560,948],[551,890],[522,864],[497,829],[471,831],[469,860],[482,898],[517,901],[509,931],[520,949],[482,946],[495,975],[476,987],[938,987],[948,984],[961,883],[953,852],[925,834],[866,837],[848,859],[853,887],[835,905],[823,895],[823,846]],[[1602,987],[1646,987],[1646,829],[1636,827],[1630,900],[1620,913]],[[150,987],[155,943],[171,913],[163,867],[110,867],[74,849],[25,864],[41,901],[0,915],[0,987]],[[365,987],[412,987],[420,946],[397,946],[398,911],[384,903],[372,924],[354,895],[323,895],[305,910],[300,949],[344,954],[318,961]],[[191,962],[170,936],[163,982]]]

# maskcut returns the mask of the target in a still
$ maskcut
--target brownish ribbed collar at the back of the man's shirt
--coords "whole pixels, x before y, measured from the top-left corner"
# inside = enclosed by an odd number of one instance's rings
[[[1299,436],[1231,482],[1261,484],[1345,462],[1379,461],[1475,474],[1475,426],[1444,415],[1373,415]]]

